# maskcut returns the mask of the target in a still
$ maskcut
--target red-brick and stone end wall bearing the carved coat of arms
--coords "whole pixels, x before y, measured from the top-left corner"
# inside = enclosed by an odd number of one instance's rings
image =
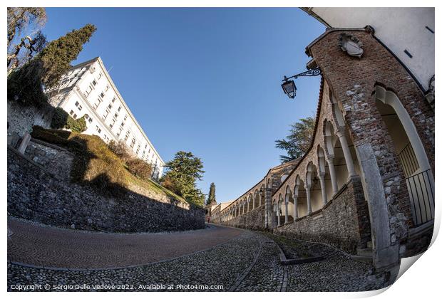
[[[362,58],[341,51],[341,31],[330,31],[309,46],[333,95],[341,103],[355,147],[369,144],[374,150],[384,184],[391,243],[404,240],[412,225],[411,206],[404,173],[394,145],[376,107],[374,87],[393,90],[413,120],[434,170],[434,112],[406,69],[367,31],[349,31],[364,45]],[[398,217],[399,216],[399,217]]]

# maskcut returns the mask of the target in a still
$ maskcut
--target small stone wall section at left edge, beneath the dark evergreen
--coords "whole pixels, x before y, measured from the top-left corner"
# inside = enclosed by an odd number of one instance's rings
[[[8,145],[13,147],[23,137],[25,132],[31,132],[34,125],[48,128],[51,125],[52,113],[47,109],[36,108],[34,106],[23,106],[18,103],[7,101],[8,103]]]

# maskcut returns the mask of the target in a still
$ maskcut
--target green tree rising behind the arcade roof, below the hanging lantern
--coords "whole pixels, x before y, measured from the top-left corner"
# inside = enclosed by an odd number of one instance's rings
[[[287,155],[279,156],[282,163],[292,161],[307,153],[313,138],[314,123],[313,117],[301,118],[299,122],[290,125],[289,135],[285,139],[275,141],[277,148],[287,152]]]

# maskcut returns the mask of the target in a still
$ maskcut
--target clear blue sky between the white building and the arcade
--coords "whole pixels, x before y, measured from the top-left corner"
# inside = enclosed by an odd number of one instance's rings
[[[316,110],[319,77],[299,78],[324,26],[300,9],[47,9],[48,40],[93,23],[78,63],[101,56],[121,95],[167,162],[202,159],[199,187],[236,199],[279,164],[274,140]]]

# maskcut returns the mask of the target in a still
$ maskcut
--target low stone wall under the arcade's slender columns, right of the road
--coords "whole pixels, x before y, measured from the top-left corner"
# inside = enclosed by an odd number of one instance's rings
[[[322,209],[273,230],[292,238],[328,243],[349,253],[371,240],[369,212],[359,179],[351,179]]]

